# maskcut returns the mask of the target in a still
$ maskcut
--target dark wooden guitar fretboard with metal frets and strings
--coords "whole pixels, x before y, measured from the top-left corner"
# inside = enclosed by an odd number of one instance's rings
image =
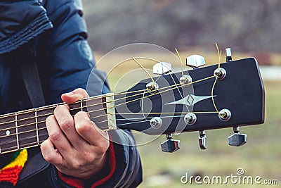
[[[69,104],[70,113],[78,111],[89,113],[91,120],[103,130],[108,129],[108,96],[93,96]],[[113,101],[113,100],[112,100]],[[0,153],[9,153],[20,149],[40,146],[48,139],[46,118],[53,115],[58,105],[42,106],[25,111],[0,115]]]

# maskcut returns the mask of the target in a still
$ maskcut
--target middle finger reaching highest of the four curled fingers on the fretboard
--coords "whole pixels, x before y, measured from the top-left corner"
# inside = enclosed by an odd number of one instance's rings
[[[60,129],[63,130],[70,144],[76,149],[81,146],[81,144],[84,144],[84,139],[82,139],[75,130],[74,120],[70,114],[69,107],[67,105],[60,105],[55,108],[54,114]]]

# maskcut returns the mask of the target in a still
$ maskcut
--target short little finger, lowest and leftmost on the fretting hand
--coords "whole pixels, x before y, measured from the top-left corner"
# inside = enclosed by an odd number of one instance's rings
[[[53,165],[60,165],[63,163],[63,156],[55,149],[50,139],[46,139],[42,142],[40,149],[44,159],[48,163],[52,163]]]

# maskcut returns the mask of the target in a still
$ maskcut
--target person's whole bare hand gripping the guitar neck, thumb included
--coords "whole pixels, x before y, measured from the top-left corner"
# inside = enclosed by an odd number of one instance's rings
[[[75,89],[61,98],[72,104],[87,96],[84,89]],[[41,144],[41,152],[61,173],[88,179],[105,165],[108,134],[96,127],[86,112],[79,111],[72,117],[69,109],[60,105],[46,119],[49,137]]]

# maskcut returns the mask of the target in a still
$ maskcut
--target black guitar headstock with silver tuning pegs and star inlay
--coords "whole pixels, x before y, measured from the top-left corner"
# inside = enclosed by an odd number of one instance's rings
[[[231,61],[230,55],[226,63],[202,68],[198,66],[204,58],[188,61],[193,69],[179,73],[171,73],[169,63],[158,63],[154,72],[159,76],[115,94],[117,127],[166,134],[162,150],[168,152],[178,149],[171,138],[175,132],[199,131],[200,147],[206,149],[205,130],[233,127],[229,144],[246,143],[247,135],[239,127],[264,121],[264,88],[256,59]]]

